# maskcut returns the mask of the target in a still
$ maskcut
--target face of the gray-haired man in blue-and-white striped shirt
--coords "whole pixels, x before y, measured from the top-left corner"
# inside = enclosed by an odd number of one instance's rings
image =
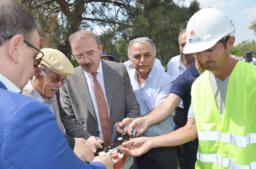
[[[148,76],[154,66],[154,61],[154,50],[150,42],[134,42],[131,45],[131,64],[140,76]]]

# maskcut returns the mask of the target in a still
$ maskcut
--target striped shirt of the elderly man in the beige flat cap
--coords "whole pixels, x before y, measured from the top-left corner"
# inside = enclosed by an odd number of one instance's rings
[[[49,109],[55,115],[55,110],[54,110],[54,107],[53,107],[54,97],[49,98],[49,101],[44,100],[44,98],[34,89],[31,82],[32,82],[32,80],[28,83],[28,90],[32,94],[34,99],[36,99],[36,100],[44,103],[45,105],[47,105],[47,107],[49,107]],[[55,119],[55,120],[57,121],[57,119]]]

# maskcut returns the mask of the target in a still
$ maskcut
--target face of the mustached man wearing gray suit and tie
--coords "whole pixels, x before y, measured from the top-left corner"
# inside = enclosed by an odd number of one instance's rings
[[[100,54],[102,54],[102,45],[97,45],[93,36],[79,42],[72,42],[72,51],[79,65],[88,73],[94,73],[98,70],[100,64]]]

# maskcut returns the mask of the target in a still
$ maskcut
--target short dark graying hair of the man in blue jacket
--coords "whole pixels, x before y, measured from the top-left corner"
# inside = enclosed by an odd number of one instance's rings
[[[30,41],[38,25],[33,14],[17,0],[0,0],[0,46],[16,34]]]

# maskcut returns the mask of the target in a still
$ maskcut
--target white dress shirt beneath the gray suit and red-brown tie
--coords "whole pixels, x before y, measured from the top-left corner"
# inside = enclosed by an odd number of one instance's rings
[[[105,83],[104,83],[104,76],[103,76],[103,69],[102,69],[102,62],[100,61],[100,64],[99,64],[99,68],[97,70],[97,80],[100,84],[100,86],[102,87],[102,91],[103,91],[103,94],[105,96],[105,100],[107,101],[106,99],[106,92],[105,92]],[[93,89],[93,75],[91,73],[88,73],[86,71],[84,71],[84,75],[85,75],[85,79],[86,79],[86,82],[87,82],[87,86],[89,88],[89,91],[90,91],[90,96],[92,98],[92,101],[93,101],[93,107],[94,107],[94,110],[95,110],[95,113],[96,113],[96,116],[97,116],[97,120],[98,120],[98,124],[99,124],[99,137],[103,140],[103,135],[102,135],[102,128],[101,128],[101,124],[100,124],[100,119],[99,119],[99,111],[98,111],[98,107],[97,107],[97,103],[96,103],[96,98],[95,98],[95,93],[94,93],[94,89]]]

